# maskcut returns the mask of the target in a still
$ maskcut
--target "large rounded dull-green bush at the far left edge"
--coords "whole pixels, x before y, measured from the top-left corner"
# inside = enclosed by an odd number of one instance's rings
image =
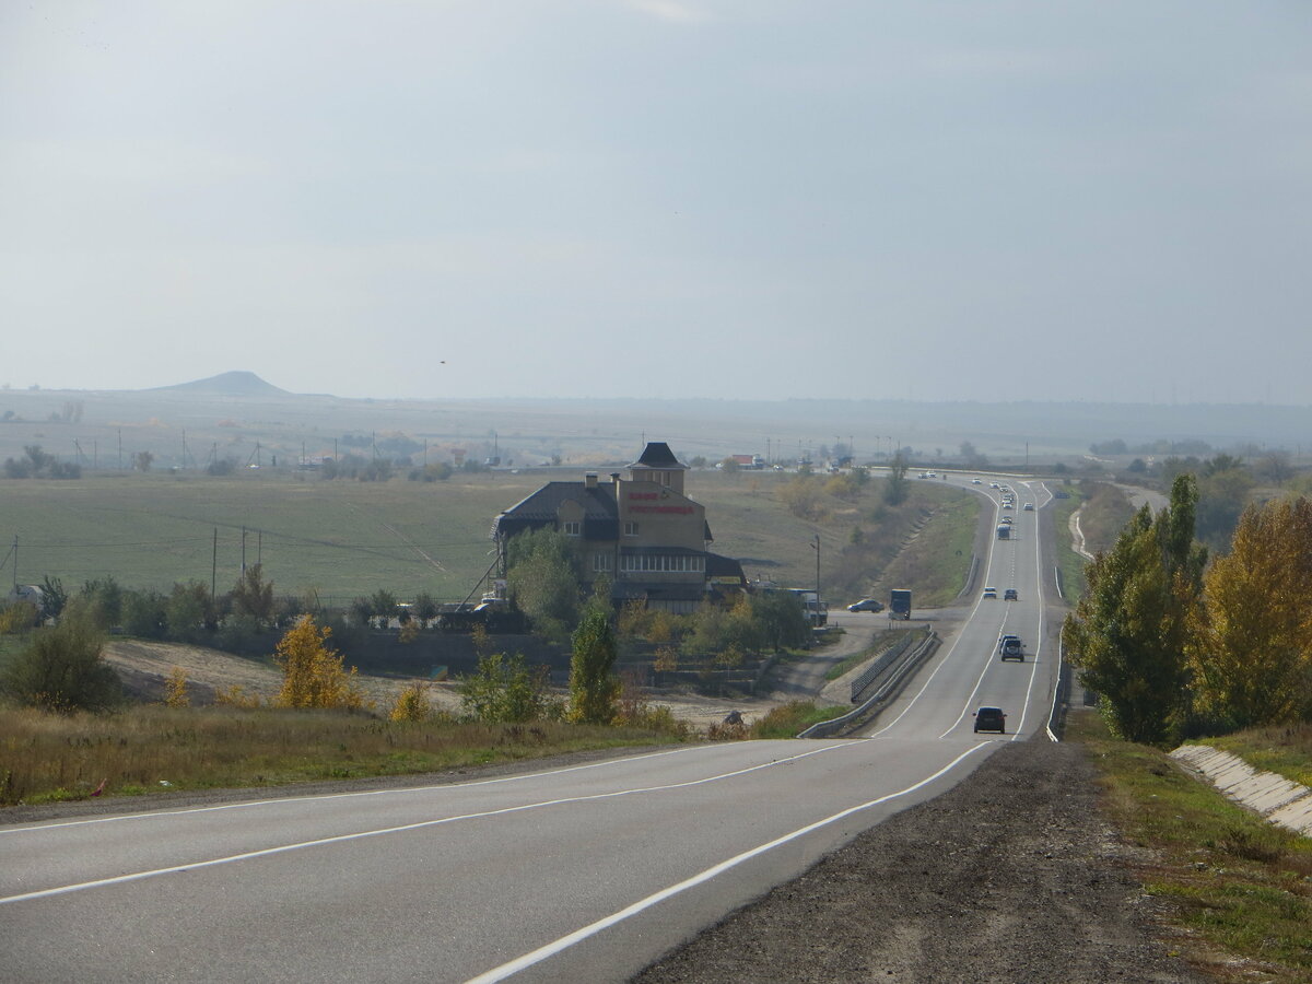
[[[112,710],[123,687],[102,657],[104,643],[85,611],[70,613],[58,626],[33,632],[0,677],[0,690],[24,706],[59,714]]]

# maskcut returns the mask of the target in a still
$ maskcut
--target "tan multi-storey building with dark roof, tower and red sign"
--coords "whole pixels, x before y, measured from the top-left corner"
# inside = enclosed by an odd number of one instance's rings
[[[710,552],[706,508],[685,495],[687,466],[669,445],[649,442],[627,471],[609,482],[593,472],[583,482],[550,482],[497,516],[492,537],[502,573],[512,537],[555,529],[577,539],[584,583],[607,579],[615,604],[686,614],[708,596],[743,590],[741,564]]]

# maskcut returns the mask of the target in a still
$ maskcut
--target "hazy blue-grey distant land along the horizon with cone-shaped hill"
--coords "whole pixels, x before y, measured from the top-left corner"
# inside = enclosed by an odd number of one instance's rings
[[[1312,408],[926,400],[484,399],[374,400],[293,394],[249,371],[140,391],[0,390],[0,461],[37,445],[59,461],[156,468],[214,461],[283,467],[349,453],[424,462],[497,457],[505,467],[602,467],[634,461],[647,440],[682,461],[729,454],[824,459],[841,445],[861,463],[959,458],[963,442],[994,464],[1078,462],[1122,440],[1206,442],[1257,455],[1312,454]],[[394,443],[388,443],[394,440]],[[398,450],[400,445],[404,449]],[[379,443],[382,442],[382,443]],[[1143,451],[1139,451],[1143,454]]]

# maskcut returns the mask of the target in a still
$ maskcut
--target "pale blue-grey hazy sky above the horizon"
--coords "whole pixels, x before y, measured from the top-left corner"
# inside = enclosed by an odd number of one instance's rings
[[[1309,52],[1308,0],[0,0],[0,383],[1309,404]]]

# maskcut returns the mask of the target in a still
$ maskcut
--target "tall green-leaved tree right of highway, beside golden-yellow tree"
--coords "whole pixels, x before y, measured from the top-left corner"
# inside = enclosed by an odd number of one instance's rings
[[[1109,726],[1131,741],[1166,741],[1187,707],[1189,628],[1207,559],[1191,535],[1197,501],[1193,476],[1181,475],[1156,520],[1140,509],[1085,565],[1088,592],[1061,630]]]

